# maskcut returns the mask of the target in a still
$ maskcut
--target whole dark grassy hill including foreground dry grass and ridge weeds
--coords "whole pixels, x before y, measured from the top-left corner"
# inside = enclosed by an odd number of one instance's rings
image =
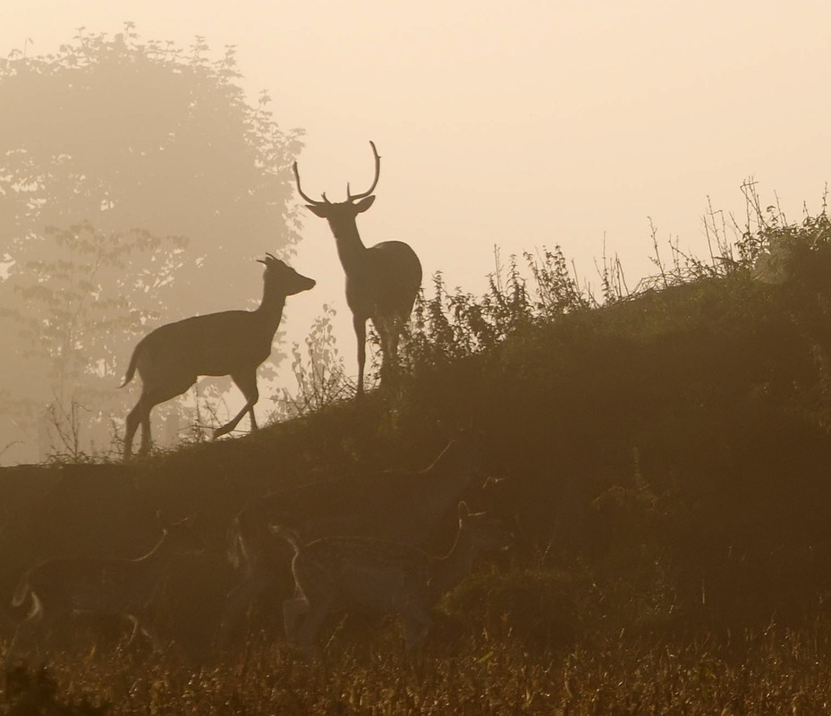
[[[334,703],[348,713],[738,713],[764,694],[769,712],[822,703],[829,239],[825,215],[767,226],[735,260],[676,266],[603,305],[558,251],[531,260],[529,280],[512,264],[480,299],[447,294],[437,277],[394,394],[311,400],[292,421],[129,465],[0,471],[0,594],[47,555],[147,550],[163,510],[196,515],[208,542],[165,587],[172,655],[139,650],[115,669],[123,631],[98,625],[51,662],[70,693],[106,695],[119,713],[165,698],[185,708],[182,693],[188,708],[240,713]],[[225,530],[246,502],[327,475],[424,467],[455,425],[484,436],[485,463],[504,478],[468,499],[513,520],[517,542],[448,595],[420,670],[403,661],[394,626],[358,617],[333,622],[326,669],[308,669],[280,642],[277,603],[260,604],[248,642],[218,659],[235,579]],[[445,549],[452,530],[451,518],[429,548]],[[84,678],[72,676],[79,653]],[[135,693],[129,673],[143,675]]]

